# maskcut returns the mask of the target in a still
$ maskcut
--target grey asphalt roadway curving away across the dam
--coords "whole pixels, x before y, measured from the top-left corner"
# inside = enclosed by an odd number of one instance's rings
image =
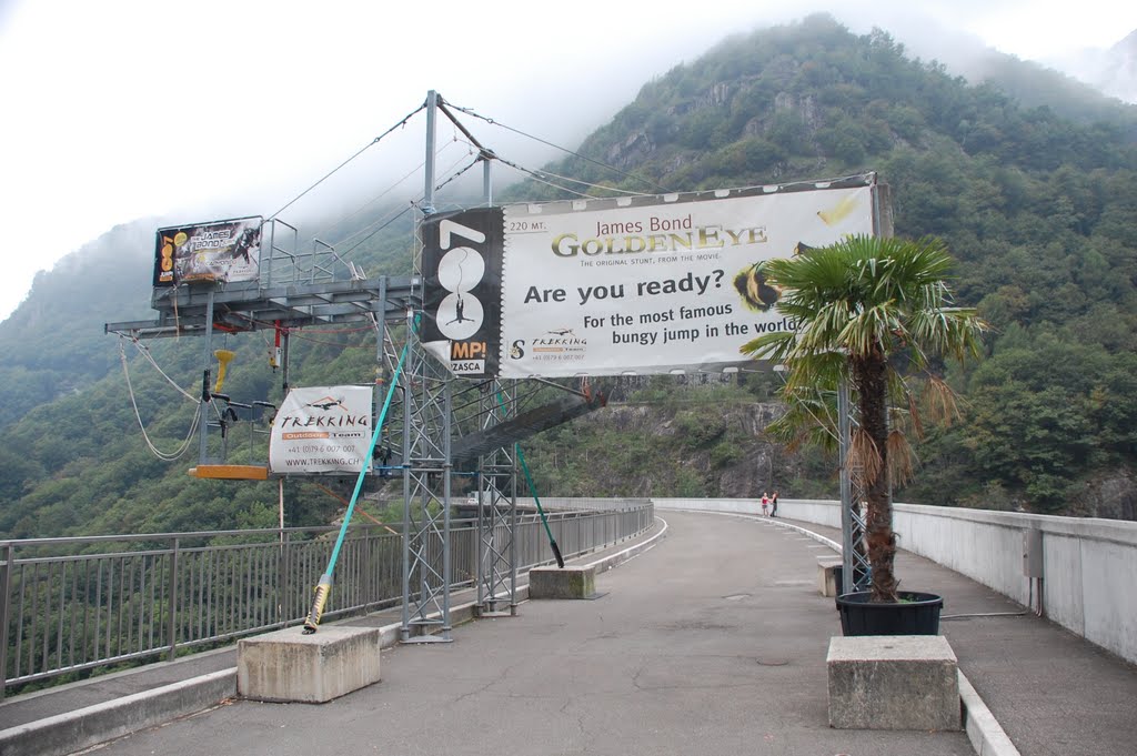
[[[767,520],[663,516],[667,537],[599,575],[600,598],[390,648],[380,683],[329,704],[233,700],[89,753],[973,754],[963,732],[829,728],[823,547]]]

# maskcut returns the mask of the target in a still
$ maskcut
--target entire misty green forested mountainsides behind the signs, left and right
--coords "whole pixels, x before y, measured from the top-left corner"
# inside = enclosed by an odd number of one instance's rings
[[[943,238],[960,302],[994,326],[982,363],[948,374],[961,422],[929,433],[915,481],[896,498],[1135,518],[1137,109],[1053,86],[1052,74],[1012,59],[988,70],[969,84],[883,32],[857,36],[811,17],[728,40],[647,83],[583,140],[588,159],[550,171],[650,193],[877,171],[896,233]],[[562,196],[532,182],[504,197]],[[0,325],[0,535],[275,523],[275,485],[190,479],[191,462],[157,459],[138,432],[101,324],[150,317],[152,230],[116,230],[73,256]],[[370,275],[405,272],[409,236],[392,226],[354,259]],[[279,391],[259,335],[227,346],[239,354],[234,392]],[[199,343],[152,348],[192,385]],[[293,382],[370,380],[373,358],[365,335],[314,338],[298,344]],[[138,356],[131,364],[156,445],[175,447],[190,402],[171,399]],[[542,495],[750,496],[770,485],[836,496],[831,459],[763,437],[775,383],[613,381],[608,409],[537,437],[526,457]],[[290,524],[327,521],[340,506],[290,485]]]

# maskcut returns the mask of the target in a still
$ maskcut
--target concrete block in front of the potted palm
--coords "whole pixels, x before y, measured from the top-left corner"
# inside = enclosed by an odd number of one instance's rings
[[[943,635],[831,638],[829,726],[958,730],[960,679]]]

